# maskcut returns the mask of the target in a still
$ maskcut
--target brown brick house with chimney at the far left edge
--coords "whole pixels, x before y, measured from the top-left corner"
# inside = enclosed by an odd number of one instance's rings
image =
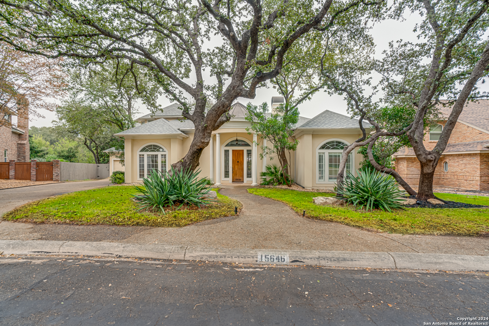
[[[19,109],[17,114],[11,111],[1,112],[0,126],[1,162],[16,160],[29,162],[29,113],[28,109]],[[12,115],[17,116],[17,126],[12,125]]]

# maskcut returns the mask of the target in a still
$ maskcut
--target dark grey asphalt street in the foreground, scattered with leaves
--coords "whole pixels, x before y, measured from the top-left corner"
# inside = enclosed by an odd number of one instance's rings
[[[488,281],[480,272],[3,256],[0,325],[488,325]]]

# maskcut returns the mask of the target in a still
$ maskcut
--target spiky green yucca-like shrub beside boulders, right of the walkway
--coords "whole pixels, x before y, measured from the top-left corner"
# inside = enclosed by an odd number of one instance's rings
[[[382,211],[391,212],[392,209],[402,209],[400,198],[405,192],[399,190],[396,180],[390,175],[383,175],[378,171],[364,169],[358,172],[358,176],[347,173],[349,178],[343,181],[343,189],[336,188],[334,191],[342,197],[340,199],[359,206],[365,210],[380,208]]]

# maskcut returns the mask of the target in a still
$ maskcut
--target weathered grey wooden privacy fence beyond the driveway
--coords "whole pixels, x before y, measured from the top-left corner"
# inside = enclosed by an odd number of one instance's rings
[[[60,181],[105,179],[109,177],[109,164],[60,162]]]

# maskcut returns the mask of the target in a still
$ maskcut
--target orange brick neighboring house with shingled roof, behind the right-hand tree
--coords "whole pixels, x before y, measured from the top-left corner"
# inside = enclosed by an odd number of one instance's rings
[[[445,119],[426,130],[424,147],[432,150],[451,108],[441,108]],[[395,168],[410,185],[418,186],[420,163],[412,148],[394,155]],[[468,103],[457,120],[435,171],[433,186],[489,191],[489,100]]]

